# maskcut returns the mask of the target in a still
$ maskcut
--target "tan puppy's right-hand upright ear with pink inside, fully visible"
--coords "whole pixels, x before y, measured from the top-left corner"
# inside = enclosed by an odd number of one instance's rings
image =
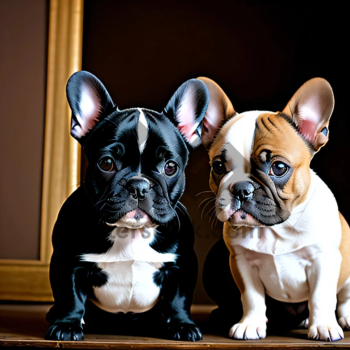
[[[334,108],[332,88],[327,80],[313,78],[303,84],[283,110],[315,151],[328,141],[328,123]]]

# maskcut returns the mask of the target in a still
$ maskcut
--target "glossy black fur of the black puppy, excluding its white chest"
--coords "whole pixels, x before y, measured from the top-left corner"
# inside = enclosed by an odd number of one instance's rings
[[[85,134],[80,131],[85,123],[80,106],[84,89],[89,89],[99,102],[96,125],[90,125]],[[200,130],[209,93],[204,83],[192,79],[170,100],[167,116],[142,110],[148,138],[141,153],[140,111],[118,110],[105,87],[88,72],[78,72],[70,78],[67,98],[72,109],[72,135],[84,146],[89,166],[85,182],[63,204],[52,233],[50,283],[55,304],[47,314],[50,327],[45,339],[80,340],[82,327],[95,333],[129,334],[136,329],[139,332],[135,335],[182,341],[202,339],[190,312],[198,270],[194,230],[186,209],[178,202],[185,186],[188,148],[192,146],[177,129],[183,116],[173,114],[179,111],[188,89],[196,111],[190,119],[200,123]],[[111,171],[100,166],[105,157],[113,160]],[[178,168],[172,177],[162,172],[167,160]],[[81,255],[106,252],[113,244],[108,239],[113,228],[106,223],[116,223],[133,210],[146,213],[159,225],[150,246],[157,252],[177,254],[177,260],[165,263],[153,276],[161,287],[156,306],[139,314],[109,313],[87,301],[94,298],[93,286],[103,286],[109,276],[95,263],[81,261]],[[81,324],[83,316],[85,325]]]

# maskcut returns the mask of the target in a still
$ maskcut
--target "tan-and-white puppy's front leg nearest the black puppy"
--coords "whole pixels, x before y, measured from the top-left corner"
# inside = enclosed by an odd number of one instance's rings
[[[231,327],[229,335],[234,339],[265,338],[267,322],[265,289],[260,280],[259,270],[256,266],[248,264],[244,254],[235,255],[232,251],[230,268],[241,292],[243,317]]]

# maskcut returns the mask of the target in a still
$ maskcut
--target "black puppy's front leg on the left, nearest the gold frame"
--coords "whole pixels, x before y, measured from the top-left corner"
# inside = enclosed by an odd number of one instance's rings
[[[46,315],[50,327],[46,340],[84,339],[82,318],[86,290],[82,283],[81,271],[66,256],[52,254],[50,263],[50,283],[55,304]]]

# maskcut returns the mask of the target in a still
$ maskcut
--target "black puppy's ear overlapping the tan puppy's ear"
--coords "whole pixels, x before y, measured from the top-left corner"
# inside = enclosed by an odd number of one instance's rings
[[[209,103],[207,86],[190,79],[176,90],[163,110],[184,139],[189,150],[201,144],[202,120]]]

